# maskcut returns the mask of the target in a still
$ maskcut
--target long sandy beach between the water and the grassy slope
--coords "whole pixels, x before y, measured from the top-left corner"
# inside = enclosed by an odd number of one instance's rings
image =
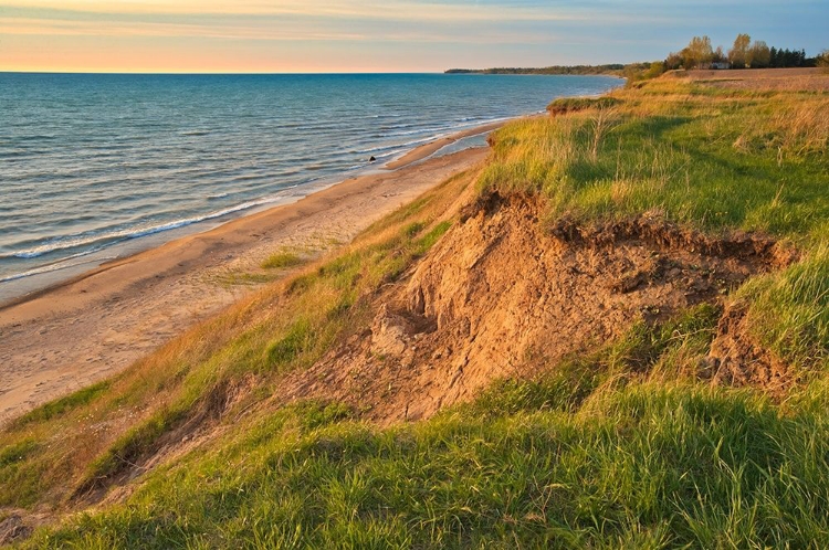
[[[428,158],[470,130],[414,149],[392,169],[228,222],[0,307],[0,422],[116,373],[256,288],[281,248],[322,253],[482,161],[486,148]],[[450,139],[450,141],[447,141]],[[420,161],[420,162],[418,162]]]

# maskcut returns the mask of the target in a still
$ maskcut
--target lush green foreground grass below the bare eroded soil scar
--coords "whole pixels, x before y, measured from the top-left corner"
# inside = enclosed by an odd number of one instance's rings
[[[293,405],[30,546],[829,543],[826,413],[783,415],[748,393],[648,383],[595,392],[583,410],[536,401],[379,431],[334,405]]]

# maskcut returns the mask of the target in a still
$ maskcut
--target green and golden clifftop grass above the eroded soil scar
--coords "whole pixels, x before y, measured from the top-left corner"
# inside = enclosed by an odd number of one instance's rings
[[[814,236],[829,216],[826,94],[695,89],[653,81],[609,109],[508,125],[480,186],[542,194],[553,220],[655,211],[710,232]]]

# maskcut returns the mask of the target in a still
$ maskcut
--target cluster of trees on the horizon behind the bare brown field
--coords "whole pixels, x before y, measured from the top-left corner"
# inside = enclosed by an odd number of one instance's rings
[[[714,50],[710,38],[694,36],[682,51],[668,55],[664,70],[814,67],[817,61],[816,57],[807,57],[805,50],[768,47],[762,40],[752,42],[748,34],[737,34],[727,54],[723,52],[723,46]]]

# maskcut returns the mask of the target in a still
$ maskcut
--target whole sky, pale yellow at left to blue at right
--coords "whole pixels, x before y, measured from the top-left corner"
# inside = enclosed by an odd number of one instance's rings
[[[829,0],[0,0],[0,71],[440,72],[829,47]]]

